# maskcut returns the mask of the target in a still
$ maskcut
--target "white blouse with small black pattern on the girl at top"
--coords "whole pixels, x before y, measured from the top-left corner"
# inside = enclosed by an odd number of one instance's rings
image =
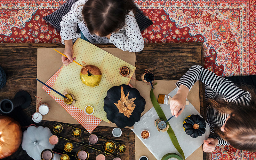
[[[62,44],[64,44],[64,40],[70,39],[72,39],[74,43],[77,38],[81,37],[81,34],[76,33],[78,24],[84,36],[91,43],[113,43],[117,48],[130,52],[140,52],[143,50],[144,41],[132,11],[126,15],[125,26],[117,32],[112,33],[110,39],[108,39],[107,37],[100,37],[89,33],[88,28],[84,24],[82,15],[85,2],[87,2],[87,0],[76,1],[72,5],[71,10],[62,17],[62,21],[60,22]]]

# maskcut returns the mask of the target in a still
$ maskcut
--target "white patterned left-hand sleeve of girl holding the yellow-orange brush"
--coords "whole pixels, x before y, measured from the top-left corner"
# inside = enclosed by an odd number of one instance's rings
[[[77,23],[83,21],[82,9],[85,1],[86,0],[79,0],[75,2],[72,5],[71,10],[62,17],[60,22],[60,36],[62,44],[65,44],[65,40],[72,40],[72,42],[75,42],[77,38],[81,37],[81,34],[76,33],[76,29]]]

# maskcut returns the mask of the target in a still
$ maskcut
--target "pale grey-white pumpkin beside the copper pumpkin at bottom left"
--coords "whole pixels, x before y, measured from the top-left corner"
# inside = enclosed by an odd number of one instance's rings
[[[21,147],[31,158],[41,159],[40,154],[44,149],[53,149],[54,147],[49,142],[51,136],[52,133],[47,127],[30,126],[23,133]]]

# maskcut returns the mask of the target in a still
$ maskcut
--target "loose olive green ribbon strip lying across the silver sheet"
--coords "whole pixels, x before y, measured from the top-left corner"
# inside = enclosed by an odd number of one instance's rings
[[[156,85],[157,83],[154,84],[154,86]],[[158,114],[159,118],[161,119],[164,119],[164,121],[167,120],[167,118],[165,117],[164,115],[164,112],[163,110],[161,109],[159,103],[157,102],[156,100],[156,97],[154,95],[154,92],[153,92],[153,89],[150,90],[150,98],[151,98],[151,102],[156,110],[156,113]],[[183,159],[185,160],[185,156],[184,156],[184,153],[183,153],[183,150],[181,149],[180,147],[180,144],[172,130],[172,127],[170,126],[169,122],[167,122],[167,125],[169,125],[169,128],[167,129],[167,133],[169,134],[171,140],[172,140],[172,144],[174,145],[174,147],[178,150],[178,152],[181,154],[181,156],[183,157]]]

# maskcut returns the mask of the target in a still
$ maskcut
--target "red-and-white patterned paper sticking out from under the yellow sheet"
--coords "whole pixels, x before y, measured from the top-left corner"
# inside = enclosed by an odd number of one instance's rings
[[[46,84],[50,87],[53,87],[56,78],[58,77],[60,70],[62,69],[62,66],[60,69],[53,74],[53,76],[46,82]],[[83,126],[89,133],[92,133],[92,131],[100,124],[102,121],[100,118],[94,117],[92,115],[87,115],[85,112],[75,106],[72,105],[66,105],[63,100],[60,98],[57,98],[53,95],[51,95],[51,89],[47,88],[46,86],[42,87],[45,92],[47,92],[57,103],[60,104],[62,108],[64,108],[73,118],[76,119],[76,121]]]

